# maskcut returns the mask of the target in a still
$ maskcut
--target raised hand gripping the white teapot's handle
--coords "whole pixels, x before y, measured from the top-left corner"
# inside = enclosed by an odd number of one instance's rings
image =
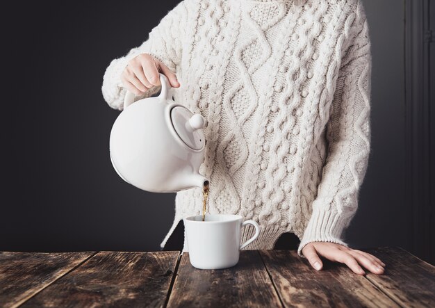
[[[121,81],[127,90],[140,95],[154,86],[160,86],[159,72],[167,76],[173,88],[179,88],[180,83],[177,76],[161,61],[149,54],[140,54],[129,60],[121,74]]]

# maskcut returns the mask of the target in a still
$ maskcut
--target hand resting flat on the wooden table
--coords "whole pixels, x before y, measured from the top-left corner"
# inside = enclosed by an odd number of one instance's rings
[[[319,257],[322,256],[331,261],[346,264],[354,273],[359,275],[366,274],[361,266],[377,275],[384,273],[385,264],[377,257],[368,252],[347,248],[336,243],[311,242],[305,245],[302,249],[302,254],[304,254],[304,257],[308,259],[315,270],[322,269],[323,264]]]

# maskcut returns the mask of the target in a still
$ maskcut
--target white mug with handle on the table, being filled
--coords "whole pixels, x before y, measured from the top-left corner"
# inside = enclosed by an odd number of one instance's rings
[[[260,234],[254,220],[243,221],[240,215],[202,215],[183,218],[190,264],[203,270],[229,268],[238,263],[239,252]],[[253,225],[256,232],[240,245],[240,231],[245,225]]]

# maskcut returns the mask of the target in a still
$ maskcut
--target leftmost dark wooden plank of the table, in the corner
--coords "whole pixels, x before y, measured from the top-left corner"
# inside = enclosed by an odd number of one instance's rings
[[[0,252],[0,307],[16,307],[95,252]]]

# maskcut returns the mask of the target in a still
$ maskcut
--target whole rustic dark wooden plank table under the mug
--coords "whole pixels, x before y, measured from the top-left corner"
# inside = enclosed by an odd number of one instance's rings
[[[401,248],[366,250],[384,275],[288,250],[242,251],[197,270],[179,252],[0,252],[0,307],[435,307],[435,267]]]

